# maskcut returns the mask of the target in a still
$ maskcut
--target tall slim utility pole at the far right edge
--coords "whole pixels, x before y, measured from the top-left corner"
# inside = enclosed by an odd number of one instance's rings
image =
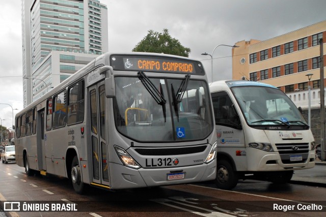
[[[322,38],[319,39],[320,45],[320,118],[321,118],[321,161],[325,161],[325,103],[324,103],[324,55]]]

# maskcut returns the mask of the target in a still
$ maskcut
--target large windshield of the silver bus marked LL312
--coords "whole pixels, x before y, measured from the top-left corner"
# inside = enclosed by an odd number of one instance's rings
[[[202,80],[115,77],[115,82],[115,124],[127,138],[141,142],[201,140],[212,132],[209,90]],[[153,94],[156,91],[159,94]]]

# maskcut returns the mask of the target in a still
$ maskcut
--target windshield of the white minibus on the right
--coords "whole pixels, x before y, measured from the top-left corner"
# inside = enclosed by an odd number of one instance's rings
[[[249,125],[308,126],[281,90],[261,86],[234,87],[232,92]]]

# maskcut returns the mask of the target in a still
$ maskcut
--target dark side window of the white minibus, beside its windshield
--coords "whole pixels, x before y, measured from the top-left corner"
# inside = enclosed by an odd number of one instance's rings
[[[240,118],[226,92],[212,94],[215,124],[241,129]]]

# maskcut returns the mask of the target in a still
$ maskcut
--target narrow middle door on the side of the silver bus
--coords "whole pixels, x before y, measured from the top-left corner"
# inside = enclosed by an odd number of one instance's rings
[[[45,147],[44,147],[44,108],[37,112],[37,124],[36,124],[36,135],[37,135],[37,160],[39,170],[46,170],[45,165]],[[44,159],[43,159],[44,158]]]

